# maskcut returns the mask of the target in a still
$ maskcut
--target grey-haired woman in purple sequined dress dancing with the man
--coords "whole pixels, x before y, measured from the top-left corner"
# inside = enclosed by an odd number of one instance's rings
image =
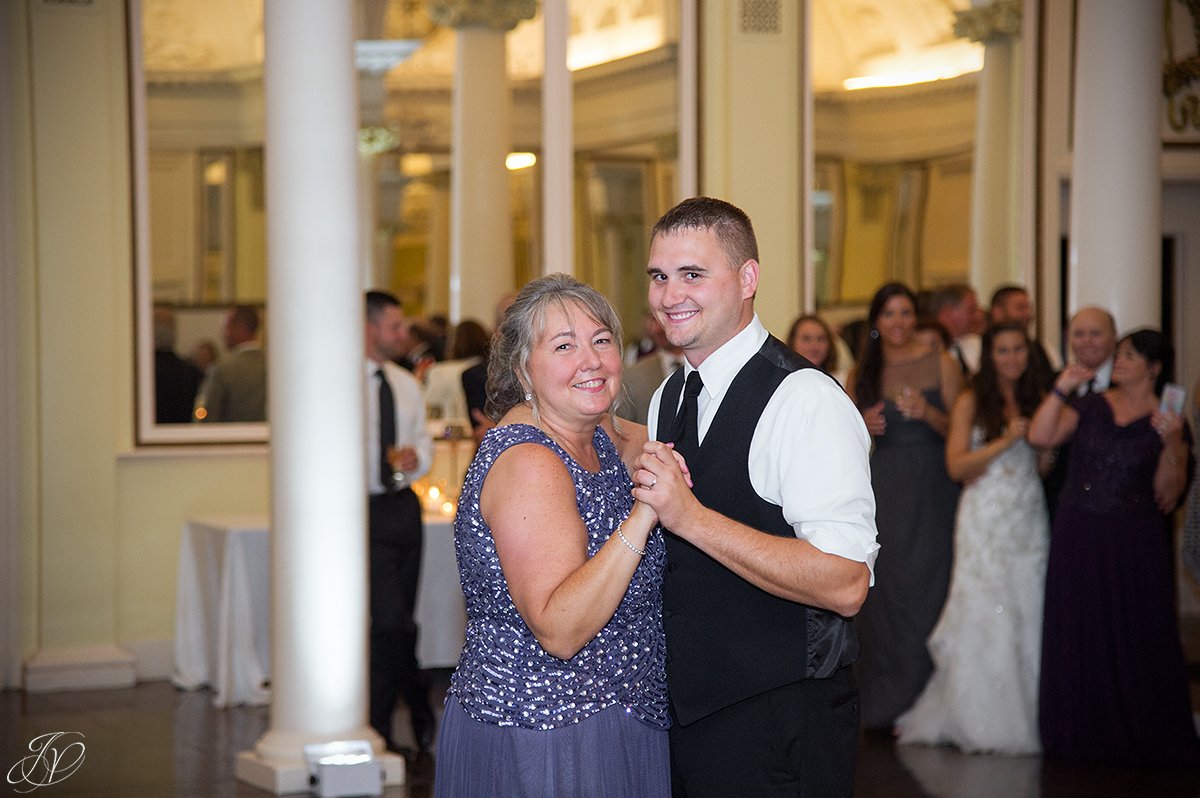
[[[467,470],[455,548],[467,641],[438,740],[437,796],[668,796],[662,533],[614,425],[619,322],[551,275],[492,343],[497,421]],[[616,438],[616,440],[614,440]]]

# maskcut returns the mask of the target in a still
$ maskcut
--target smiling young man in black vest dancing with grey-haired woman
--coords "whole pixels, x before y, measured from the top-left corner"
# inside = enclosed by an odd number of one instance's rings
[[[848,797],[850,617],[878,550],[870,436],[838,383],[762,326],[757,259],[749,217],[719,199],[684,200],[650,238],[650,308],[686,358],[650,402],[634,490],[671,533],[674,794]]]

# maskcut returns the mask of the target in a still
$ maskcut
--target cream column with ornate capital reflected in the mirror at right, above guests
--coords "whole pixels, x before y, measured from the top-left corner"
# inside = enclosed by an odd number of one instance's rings
[[[1019,0],[974,0],[954,31],[982,42],[971,184],[971,284],[984,296],[1003,283],[1027,283],[1021,262],[1021,70]]]

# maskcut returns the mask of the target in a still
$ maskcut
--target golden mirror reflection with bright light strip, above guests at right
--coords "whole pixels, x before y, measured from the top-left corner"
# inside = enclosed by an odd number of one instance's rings
[[[954,34],[970,0],[809,2],[812,305],[836,328],[884,282],[970,282],[983,47]]]

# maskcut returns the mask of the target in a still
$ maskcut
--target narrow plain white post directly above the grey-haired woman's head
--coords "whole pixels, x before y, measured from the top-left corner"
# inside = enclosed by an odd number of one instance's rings
[[[541,77],[544,274],[575,274],[575,104],[566,67],[566,0],[544,0],[546,58]],[[479,317],[486,318],[486,317]]]

